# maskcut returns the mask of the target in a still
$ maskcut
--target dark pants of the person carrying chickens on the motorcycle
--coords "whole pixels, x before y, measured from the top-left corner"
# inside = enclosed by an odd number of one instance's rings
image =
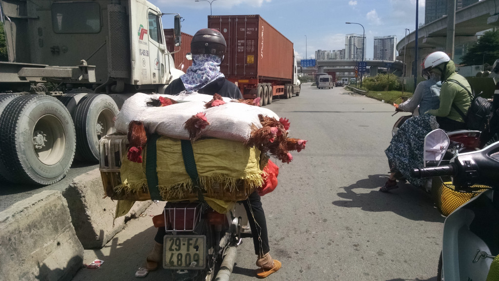
[[[264,255],[270,251],[268,247],[267,222],[265,213],[261,206],[261,200],[258,193],[251,193],[247,200],[240,201],[243,203],[250,222],[251,233],[253,234],[254,253],[256,255]],[[254,218],[254,219],[253,219]],[[159,244],[163,244],[163,237],[166,235],[164,227],[158,228],[154,240]]]

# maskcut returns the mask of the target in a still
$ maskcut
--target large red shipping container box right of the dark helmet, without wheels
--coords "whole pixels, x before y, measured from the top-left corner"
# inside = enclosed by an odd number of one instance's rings
[[[220,68],[229,80],[292,81],[293,43],[260,15],[209,15],[208,28],[219,30],[227,41]]]

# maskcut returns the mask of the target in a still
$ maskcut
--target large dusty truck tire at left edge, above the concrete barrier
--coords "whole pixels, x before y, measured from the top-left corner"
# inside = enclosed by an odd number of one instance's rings
[[[73,163],[76,136],[69,111],[56,98],[22,95],[0,115],[2,175],[10,182],[49,185]]]

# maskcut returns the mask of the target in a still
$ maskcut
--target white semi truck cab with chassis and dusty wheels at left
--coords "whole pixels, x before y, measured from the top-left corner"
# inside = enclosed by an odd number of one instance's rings
[[[76,158],[98,163],[120,104],[184,72],[146,0],[0,0],[0,181],[48,185]],[[179,14],[175,43],[181,43]],[[47,86],[48,84],[48,86]]]

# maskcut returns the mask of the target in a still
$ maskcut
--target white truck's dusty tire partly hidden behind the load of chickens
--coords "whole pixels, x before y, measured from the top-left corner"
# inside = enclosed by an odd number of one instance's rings
[[[87,94],[76,106],[76,151],[78,160],[98,163],[99,140],[114,132],[114,117],[118,106],[105,94]]]

